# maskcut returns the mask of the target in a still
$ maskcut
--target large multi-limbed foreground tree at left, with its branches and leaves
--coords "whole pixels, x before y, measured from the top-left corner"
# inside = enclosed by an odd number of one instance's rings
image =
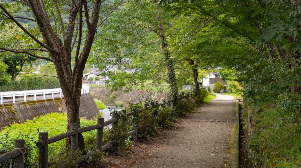
[[[20,0],[10,2],[0,4],[0,28],[3,29],[7,24],[20,28],[23,32],[20,33],[20,36],[34,42],[36,48],[13,48],[12,46],[12,48],[0,47],[0,49],[13,53],[28,54],[35,58],[53,62],[66,99],[67,130],[69,131],[71,123],[80,123],[79,105],[82,74],[95,33],[115,7],[107,6],[101,0]],[[32,12],[33,18],[18,17],[23,8]],[[110,12],[104,18],[100,18],[101,10],[110,10]],[[67,22],[62,19],[65,15],[69,16]],[[20,19],[34,21],[38,26],[28,29],[22,26]],[[50,20],[53,20],[53,22]],[[81,51],[80,48],[82,48]],[[72,68],[71,51],[73,49],[76,49],[76,55],[75,64]],[[40,56],[37,52],[46,52],[49,56]],[[79,135],[79,147],[84,148],[82,135]]]

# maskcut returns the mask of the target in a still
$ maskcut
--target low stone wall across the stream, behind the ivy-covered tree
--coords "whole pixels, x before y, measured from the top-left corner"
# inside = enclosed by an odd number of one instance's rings
[[[161,101],[162,98],[168,98],[168,91],[146,91],[146,90],[136,90],[130,91],[128,93],[124,92],[113,92],[109,93],[109,90],[105,87],[95,86],[90,88],[90,93],[94,99],[101,100],[105,104],[115,105],[116,101],[122,101],[124,106],[128,106],[130,103],[138,103],[140,100],[153,100]],[[115,97],[116,96],[116,97]]]

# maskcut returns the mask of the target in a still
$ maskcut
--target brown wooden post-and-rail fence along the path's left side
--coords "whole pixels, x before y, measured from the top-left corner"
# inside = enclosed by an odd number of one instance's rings
[[[124,117],[121,120],[122,122],[126,122],[126,117],[136,115],[137,113],[141,112],[142,110],[148,109],[150,107],[158,107],[162,105],[166,105],[166,107],[173,108],[175,105],[175,98],[172,97],[171,100],[166,101],[166,103],[158,104],[158,102],[155,104],[154,102],[150,102],[149,104],[143,104],[142,109],[135,108],[134,111],[131,111],[129,113],[126,113],[126,110],[123,110]],[[48,167],[48,144],[51,144],[53,142],[57,142],[59,140],[62,140],[64,138],[70,137],[70,143],[71,143],[71,152],[76,151],[78,149],[78,134],[82,132],[87,132],[96,129],[96,145],[95,145],[95,151],[96,152],[103,152],[113,146],[113,143],[107,143],[105,145],[102,145],[102,139],[103,139],[103,131],[104,126],[112,124],[113,126],[117,126],[119,122],[119,114],[113,113],[112,119],[105,121],[104,118],[98,118],[97,124],[87,127],[78,128],[78,123],[71,123],[71,130],[68,132],[65,132],[60,135],[56,135],[53,137],[48,138],[48,132],[39,132],[39,141],[36,143],[36,146],[39,148],[39,167],[41,168],[47,168]],[[138,135],[138,126],[137,123],[133,126],[133,130],[130,132],[127,132],[128,136],[132,135],[132,140],[137,141],[137,135]],[[24,153],[26,151],[26,147],[24,146],[24,140],[23,139],[15,139],[15,146],[12,151],[9,151],[5,154],[0,155],[0,163],[5,162],[6,160],[13,159],[14,160],[14,167],[16,168],[23,168],[25,163]],[[86,154],[79,158],[79,163],[87,160],[89,157],[94,156],[94,152],[91,152],[89,154]]]

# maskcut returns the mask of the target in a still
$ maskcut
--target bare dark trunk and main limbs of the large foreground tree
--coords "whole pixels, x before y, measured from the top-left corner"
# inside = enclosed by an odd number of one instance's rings
[[[79,104],[82,88],[82,74],[92,47],[96,29],[98,27],[101,0],[94,1],[93,7],[91,7],[91,9],[93,10],[91,16],[89,16],[90,13],[88,12],[88,10],[85,9],[83,11],[83,8],[88,8],[86,1],[76,0],[70,2],[70,14],[67,31],[65,32],[64,26],[62,29],[63,40],[61,36],[53,30],[44,4],[41,4],[41,1],[39,0],[31,0],[28,1],[28,3],[33,12],[36,23],[39,26],[39,31],[43,36],[45,45],[41,45],[48,50],[51,61],[54,63],[55,69],[57,71],[57,77],[66,99],[68,117],[67,131],[70,131],[71,123],[79,123],[80,127]],[[82,48],[82,52],[80,54],[78,52],[76,53],[75,65],[72,69],[71,52],[73,46],[71,45],[73,40],[75,21],[77,15],[79,15],[78,17],[82,21],[82,14],[85,14],[86,19],[84,23],[87,26],[85,43]],[[83,21],[79,24],[82,25],[82,23]],[[79,41],[77,41],[78,47],[81,44],[81,40],[82,39],[80,38]],[[66,146],[67,148],[70,147],[69,139],[67,139]],[[84,139],[82,135],[79,134],[79,149],[84,148]]]

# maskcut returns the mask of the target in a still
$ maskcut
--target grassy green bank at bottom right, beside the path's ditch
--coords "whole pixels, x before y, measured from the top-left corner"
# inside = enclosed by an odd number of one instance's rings
[[[246,118],[256,118],[254,133],[249,136],[253,163],[267,167],[300,167],[300,114],[266,106],[254,111],[244,112]]]

